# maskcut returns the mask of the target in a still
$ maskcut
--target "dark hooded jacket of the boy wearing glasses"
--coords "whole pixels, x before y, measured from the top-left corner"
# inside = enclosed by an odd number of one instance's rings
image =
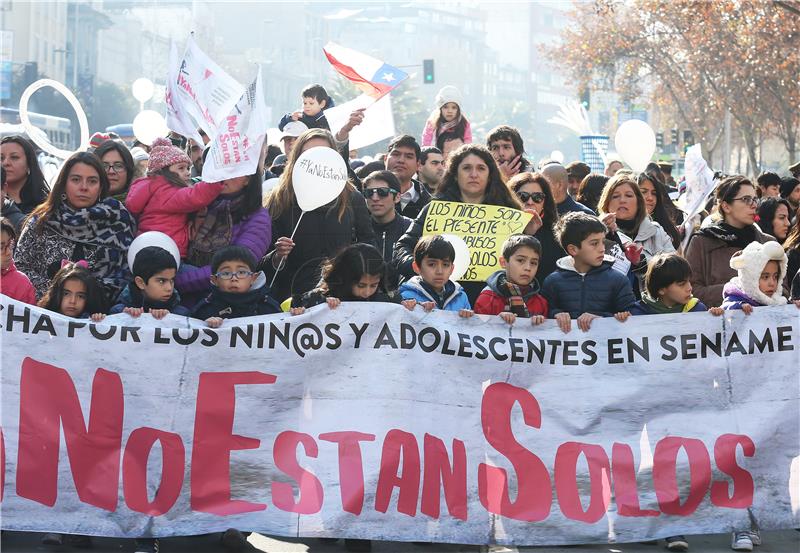
[[[223,292],[218,287],[212,286],[211,294],[195,306],[192,316],[202,320],[210,317],[238,319],[280,313],[280,304],[269,295],[269,292],[267,277],[262,272],[258,273],[250,290],[242,294]]]

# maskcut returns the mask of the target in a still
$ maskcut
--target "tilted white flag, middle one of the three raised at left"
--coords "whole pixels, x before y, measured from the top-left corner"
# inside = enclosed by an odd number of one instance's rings
[[[244,93],[244,87],[203,52],[191,36],[177,75],[177,105],[185,108],[208,136]]]

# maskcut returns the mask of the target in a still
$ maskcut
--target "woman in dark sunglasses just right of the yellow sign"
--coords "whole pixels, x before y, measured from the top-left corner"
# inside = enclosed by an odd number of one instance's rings
[[[541,173],[518,173],[508,181],[507,186],[519,198],[522,208],[533,213],[532,222],[538,227],[533,236],[542,245],[536,280],[542,283],[547,275],[556,270],[556,261],[567,255],[553,234],[558,210],[550,183]]]

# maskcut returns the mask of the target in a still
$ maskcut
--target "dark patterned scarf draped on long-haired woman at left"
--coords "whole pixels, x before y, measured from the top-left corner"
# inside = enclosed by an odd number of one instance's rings
[[[122,281],[127,277],[126,256],[136,228],[131,214],[119,201],[106,198],[82,209],[65,202],[44,224],[75,243],[72,261],[87,257],[91,273],[98,279]],[[85,247],[94,253],[86,252]]]

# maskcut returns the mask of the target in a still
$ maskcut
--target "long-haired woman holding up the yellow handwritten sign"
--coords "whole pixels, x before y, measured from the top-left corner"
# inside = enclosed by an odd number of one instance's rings
[[[465,144],[451,154],[447,171],[439,183],[434,200],[463,202],[470,204],[496,205],[523,209],[517,197],[503,181],[497,162],[484,146]],[[401,277],[414,276],[411,264],[414,261],[414,247],[422,237],[425,219],[430,204],[426,205],[406,233],[400,237],[394,248],[395,261]],[[533,223],[525,228],[526,234],[535,232]],[[475,303],[485,282],[462,282],[470,305]]]

